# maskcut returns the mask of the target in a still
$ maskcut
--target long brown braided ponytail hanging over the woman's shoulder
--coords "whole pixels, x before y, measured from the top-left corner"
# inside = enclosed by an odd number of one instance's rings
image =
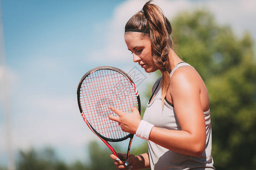
[[[148,28],[150,29],[152,58],[156,66],[163,70],[162,101],[164,104],[164,98],[170,84],[171,67],[168,55],[169,49],[172,48],[172,40],[170,38],[172,29],[170,22],[163,15],[160,8],[150,3],[151,1],[148,1],[143,6],[143,11],[145,12]]]

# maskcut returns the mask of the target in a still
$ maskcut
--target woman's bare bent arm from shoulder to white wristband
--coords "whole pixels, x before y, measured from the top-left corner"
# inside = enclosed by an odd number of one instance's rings
[[[175,71],[170,95],[181,130],[154,127],[150,141],[180,154],[200,156],[205,148],[206,131],[200,99],[201,78],[191,67]]]

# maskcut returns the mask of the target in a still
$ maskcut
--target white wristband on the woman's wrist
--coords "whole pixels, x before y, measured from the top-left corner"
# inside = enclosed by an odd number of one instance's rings
[[[153,127],[154,125],[142,120],[136,131],[136,136],[148,141],[150,132]]]

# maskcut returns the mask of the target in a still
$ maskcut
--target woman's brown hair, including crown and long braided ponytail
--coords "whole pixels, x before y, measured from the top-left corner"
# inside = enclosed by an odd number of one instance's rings
[[[125,29],[142,29],[149,30],[151,41],[152,59],[156,66],[162,68],[162,101],[166,97],[167,90],[170,84],[171,67],[169,62],[169,50],[173,43],[170,37],[172,27],[162,10],[148,1],[142,8],[142,11],[137,12],[126,23]],[[148,33],[142,33],[146,36]],[[166,71],[165,71],[166,70]]]

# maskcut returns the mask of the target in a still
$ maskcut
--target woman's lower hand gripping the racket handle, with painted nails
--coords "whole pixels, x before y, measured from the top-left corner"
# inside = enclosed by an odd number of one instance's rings
[[[131,170],[133,169],[133,164],[135,163],[135,156],[130,155],[127,160],[126,159],[126,154],[119,154],[118,157],[122,160],[120,160],[117,156],[114,154],[111,154],[110,157],[114,159],[114,164],[117,169],[128,169]]]

